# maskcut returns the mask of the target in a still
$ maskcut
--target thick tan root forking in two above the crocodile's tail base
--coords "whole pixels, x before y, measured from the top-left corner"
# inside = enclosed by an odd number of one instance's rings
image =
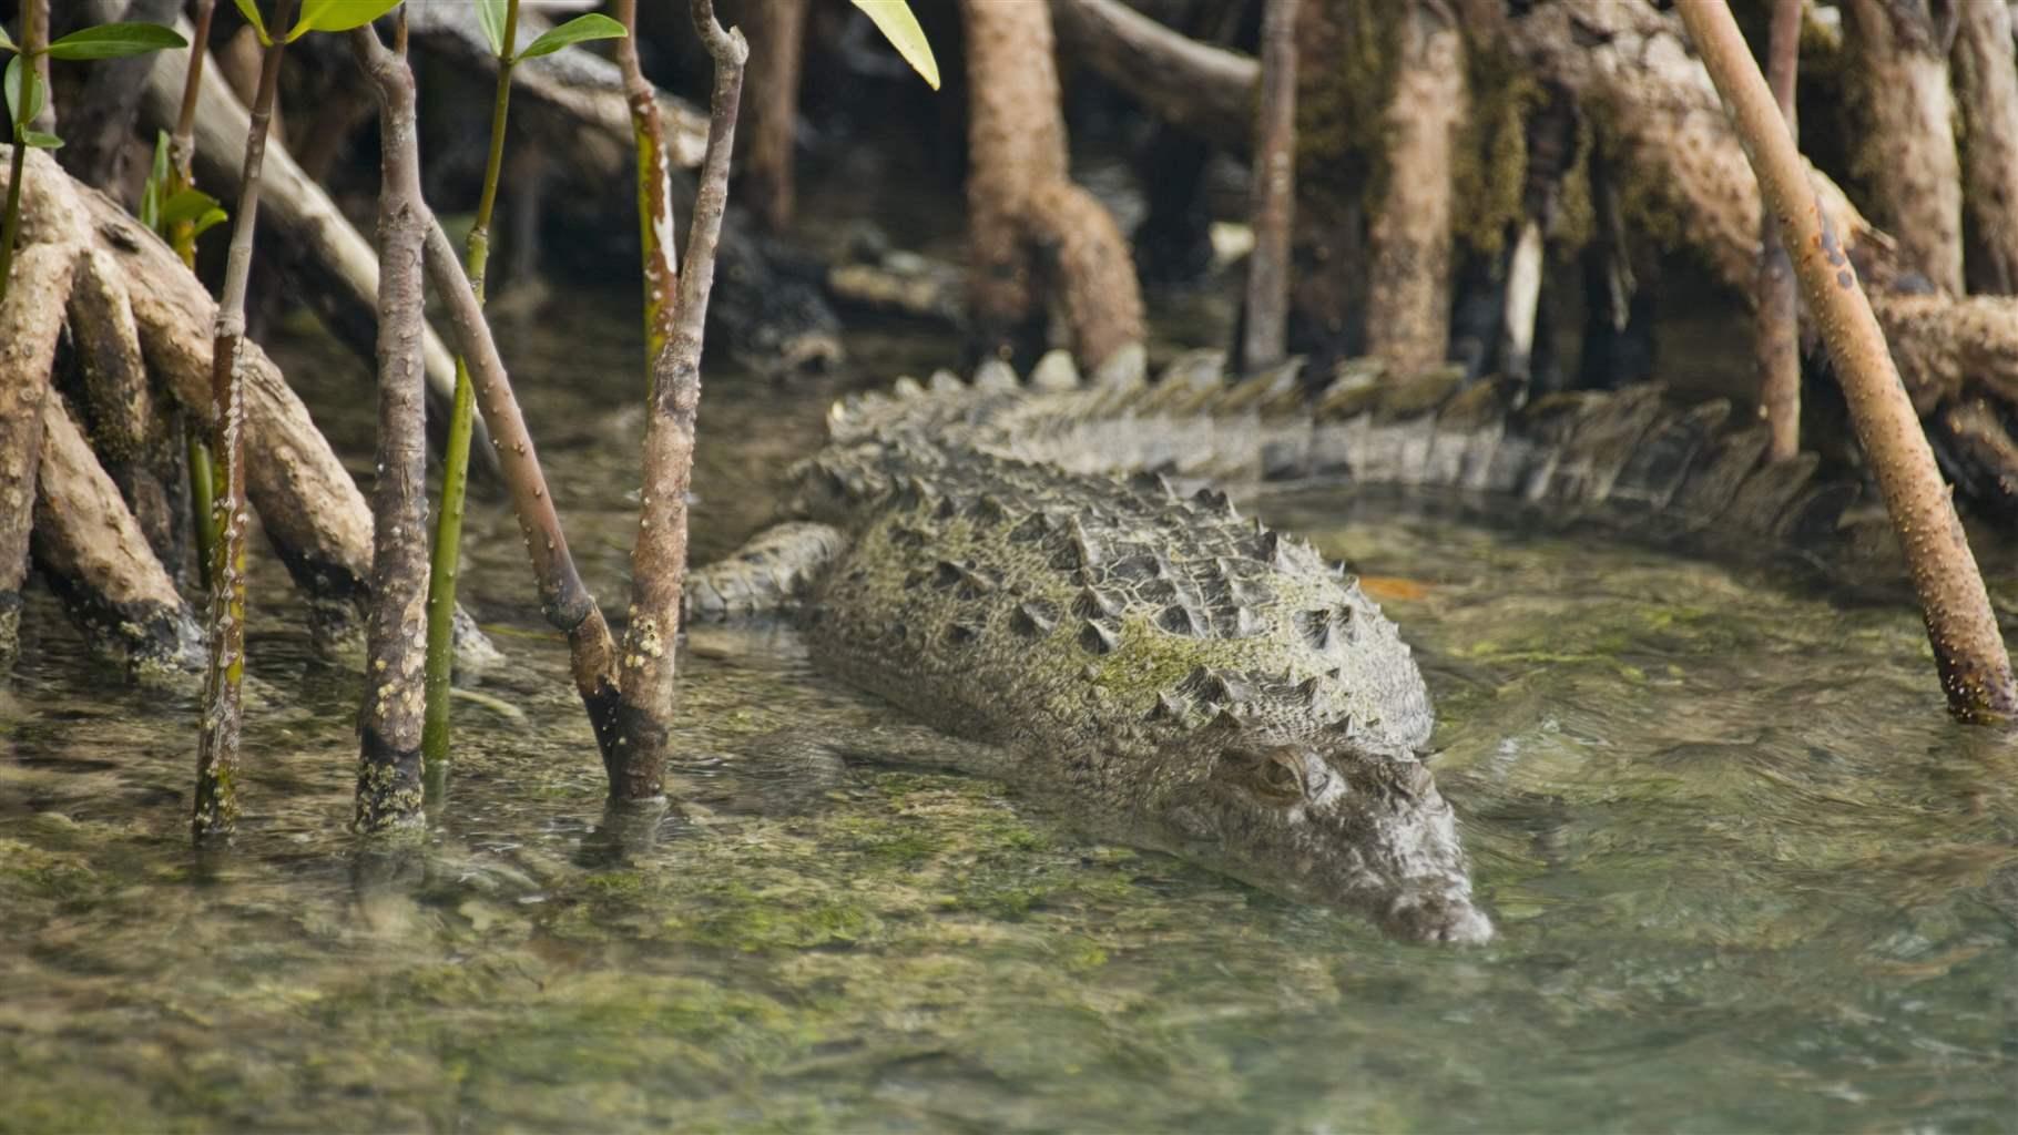
[[[1128,246],[1090,198],[1068,194],[1051,10],[1045,4],[963,0],[969,83],[969,288],[985,353],[1027,345],[1043,308],[1035,254],[1066,294],[1076,353],[1104,361],[1142,339],[1142,294]],[[1245,117],[1245,115],[1243,115]],[[1102,210],[1104,212],[1104,210]],[[1096,242],[1092,248],[1084,242]],[[1108,266],[1126,266],[1106,270]],[[1100,276],[1088,276],[1102,270]]]

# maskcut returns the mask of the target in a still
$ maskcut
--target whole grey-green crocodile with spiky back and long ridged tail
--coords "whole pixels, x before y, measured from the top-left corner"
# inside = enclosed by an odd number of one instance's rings
[[[1027,383],[991,361],[835,403],[787,520],[692,573],[688,619],[791,607],[817,665],[955,738],[888,756],[1403,939],[1485,941],[1409,645],[1209,482],[1378,474],[1774,536],[1859,496],[1657,387],[1516,407],[1449,371],[1144,371],[1128,349],[1082,383],[1053,353]]]

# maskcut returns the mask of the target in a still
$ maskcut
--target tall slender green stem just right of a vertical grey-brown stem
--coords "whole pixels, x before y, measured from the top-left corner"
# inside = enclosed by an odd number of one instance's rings
[[[490,214],[498,200],[498,171],[504,165],[504,115],[511,105],[511,69],[519,36],[519,0],[504,6],[504,54],[498,56],[498,89],[490,105],[490,155],[484,161],[484,194],[476,204],[476,224],[462,268],[476,304],[484,302],[484,272],[490,264]],[[442,508],[434,516],[434,558],[428,564],[428,716],[420,734],[430,794],[440,792],[448,762],[448,687],[456,665],[456,573],[462,564],[462,502],[470,484],[470,433],[476,395],[470,365],[456,357],[456,399],[448,415],[448,448],[442,452]]]

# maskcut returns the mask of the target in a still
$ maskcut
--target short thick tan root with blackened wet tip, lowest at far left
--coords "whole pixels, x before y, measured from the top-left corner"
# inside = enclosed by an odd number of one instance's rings
[[[147,683],[190,685],[204,637],[61,397],[42,411],[34,562],[91,647]]]

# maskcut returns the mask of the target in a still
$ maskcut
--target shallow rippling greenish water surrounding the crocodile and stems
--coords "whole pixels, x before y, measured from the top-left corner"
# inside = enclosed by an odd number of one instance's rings
[[[611,298],[569,312],[589,343],[507,335],[605,605],[630,323]],[[283,359],[365,454],[355,367]],[[842,383],[708,387],[698,554],[763,520]],[[1493,945],[1394,945],[991,782],[795,766],[777,730],[890,712],[761,627],[682,657],[688,804],[626,857],[484,502],[466,595],[513,665],[458,706],[418,849],[343,833],[357,683],[285,599],[252,619],[274,693],[214,859],[186,841],[192,704],[30,607],[0,687],[0,1131],[2018,1129],[2018,754],[1945,720],[1909,609],[1336,494],[1265,510],[1382,577]]]

